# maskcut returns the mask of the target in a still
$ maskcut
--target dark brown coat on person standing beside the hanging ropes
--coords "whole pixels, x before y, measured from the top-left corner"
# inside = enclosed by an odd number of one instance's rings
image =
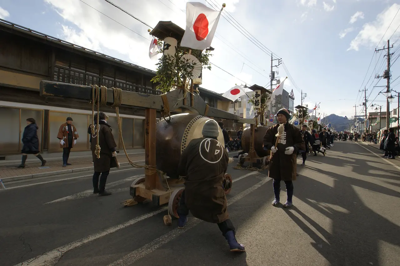
[[[94,164],[94,172],[110,171],[110,168],[117,167],[115,158],[112,157],[112,152],[116,150],[117,144],[115,143],[114,136],[111,132],[111,126],[103,121],[99,121],[100,133],[97,134],[97,126],[94,128],[95,133],[92,136],[92,158]],[[94,151],[97,145],[97,136],[99,136],[100,158],[97,158]]]

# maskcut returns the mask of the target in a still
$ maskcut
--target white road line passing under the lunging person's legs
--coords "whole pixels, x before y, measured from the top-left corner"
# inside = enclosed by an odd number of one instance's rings
[[[253,192],[254,190],[256,190],[260,186],[264,185],[266,182],[268,182],[270,180],[272,180],[272,178],[268,178],[267,176],[264,176],[264,180],[258,182],[254,186],[244,190],[243,192],[240,192],[239,194],[237,194],[236,196],[234,196],[233,198],[228,200],[227,205],[229,206],[230,204],[233,204],[236,201],[242,199],[244,196],[247,196],[248,194],[250,194],[251,192]],[[130,264],[136,262],[137,260],[143,258],[144,256],[150,254],[157,248],[160,248],[160,246],[170,242],[171,240],[173,240],[177,236],[183,234],[187,230],[193,228],[197,224],[200,224],[200,222],[202,222],[202,220],[199,220],[198,218],[190,219],[190,222],[188,222],[188,224],[186,224],[186,226],[183,229],[179,229],[179,228],[172,229],[170,232],[160,236],[159,238],[142,246],[141,248],[138,248],[137,250],[132,251],[131,253],[127,254],[120,260],[117,260],[116,262],[113,262],[113,263],[109,264],[108,266],[130,265]]]

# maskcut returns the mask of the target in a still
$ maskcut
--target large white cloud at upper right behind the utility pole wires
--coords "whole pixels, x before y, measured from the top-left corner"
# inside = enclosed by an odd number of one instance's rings
[[[395,17],[399,8],[399,4],[393,4],[378,14],[374,21],[364,24],[360,32],[358,32],[356,38],[350,42],[350,47],[347,50],[358,51],[361,45],[371,47],[379,45],[381,40],[386,42],[387,38],[392,36],[393,32],[400,24],[400,16]],[[386,34],[382,38],[382,34],[384,32],[386,32]],[[400,32],[395,32],[393,34],[393,38],[397,38],[399,35]]]

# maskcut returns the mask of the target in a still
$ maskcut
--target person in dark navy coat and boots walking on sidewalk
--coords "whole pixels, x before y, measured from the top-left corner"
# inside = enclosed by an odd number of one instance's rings
[[[25,161],[26,158],[28,158],[28,154],[36,156],[42,162],[42,166],[45,166],[46,160],[44,160],[42,155],[39,154],[39,138],[37,133],[39,127],[33,118],[26,119],[26,124],[27,126],[22,135],[22,143],[24,144],[21,150],[22,162],[18,168],[25,167]]]

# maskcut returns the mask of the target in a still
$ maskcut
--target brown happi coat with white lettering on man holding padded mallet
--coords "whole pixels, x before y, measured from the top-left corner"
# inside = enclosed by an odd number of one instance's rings
[[[264,135],[264,146],[268,150],[272,146],[275,146],[276,139],[278,138],[275,136],[278,133],[278,126],[279,124],[270,127]],[[296,154],[298,150],[306,150],[306,145],[298,128],[289,123],[286,123],[284,128],[285,130],[276,147],[278,150],[272,155],[270,160],[268,176],[274,179],[280,178],[283,181],[296,180]],[[285,154],[285,149],[290,146],[294,147],[294,152],[291,155],[287,155]]]

